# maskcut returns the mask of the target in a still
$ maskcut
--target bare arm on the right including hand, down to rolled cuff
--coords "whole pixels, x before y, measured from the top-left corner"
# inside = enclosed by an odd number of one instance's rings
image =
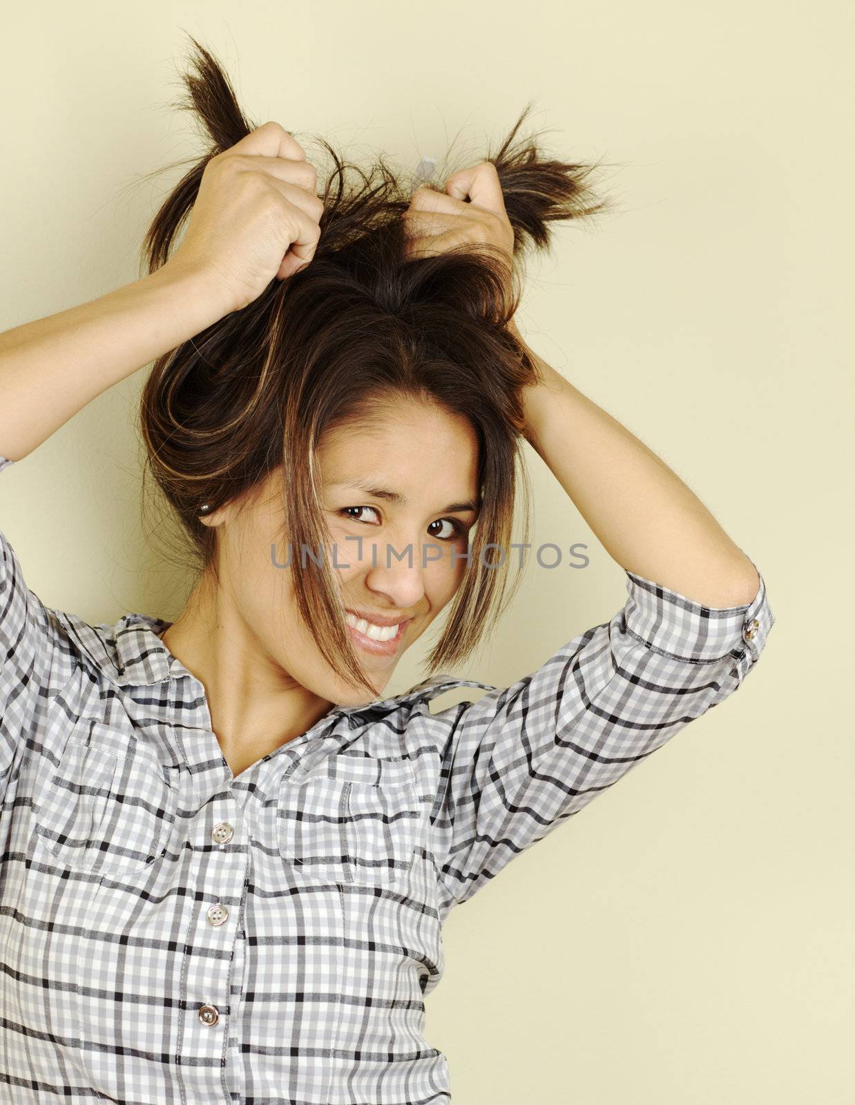
[[[413,191],[405,220],[408,255],[431,256],[462,243],[508,260],[514,229],[493,161],[461,169],[445,192]],[[495,251],[498,248],[498,253]],[[603,548],[624,570],[701,606],[750,603],[760,577],[700,499],[655,453],[528,347],[540,382],[524,388],[526,438],[552,471]]]

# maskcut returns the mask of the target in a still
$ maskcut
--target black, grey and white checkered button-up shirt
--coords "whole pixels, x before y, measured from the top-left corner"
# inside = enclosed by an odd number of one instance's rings
[[[738,690],[773,624],[762,578],[719,610],[627,572],[513,686],[336,707],[234,778],[169,623],[46,609],[0,543],[14,1105],[450,1102],[422,1032],[448,911]],[[451,686],[486,693],[432,713]]]

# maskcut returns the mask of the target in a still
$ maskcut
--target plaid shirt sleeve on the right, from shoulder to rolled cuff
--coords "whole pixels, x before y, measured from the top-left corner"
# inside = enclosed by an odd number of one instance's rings
[[[513,686],[434,715],[444,912],[724,702],[757,663],[774,623],[762,576],[750,603],[728,608],[626,577],[626,602],[609,622]]]

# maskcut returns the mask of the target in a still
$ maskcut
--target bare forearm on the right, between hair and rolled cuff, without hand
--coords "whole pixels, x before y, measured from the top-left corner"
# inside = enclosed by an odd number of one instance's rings
[[[525,339],[511,323],[520,341]],[[609,555],[709,607],[757,594],[750,559],[655,453],[526,346],[542,383],[526,388],[527,439]]]

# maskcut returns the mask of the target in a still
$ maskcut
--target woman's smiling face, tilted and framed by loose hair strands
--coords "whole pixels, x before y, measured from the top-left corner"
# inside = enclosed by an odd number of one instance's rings
[[[328,431],[317,461],[350,639],[380,695],[466,569],[462,554],[477,517],[477,438],[460,415],[400,400],[370,425]],[[226,505],[207,520],[223,523],[226,601],[283,686],[299,684],[338,705],[370,702],[365,687],[336,675],[297,615],[293,573],[315,569],[308,559],[303,568],[299,549],[288,548],[281,470],[243,511]]]

